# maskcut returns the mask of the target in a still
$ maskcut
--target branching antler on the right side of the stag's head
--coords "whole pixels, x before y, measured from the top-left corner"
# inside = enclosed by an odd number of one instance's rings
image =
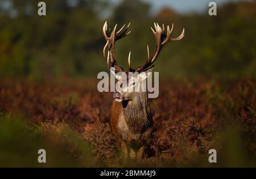
[[[147,46],[147,62],[143,66],[139,66],[136,69],[136,71],[138,71],[139,73],[141,71],[146,71],[147,69],[152,67],[151,65],[155,62],[156,58],[158,57],[158,55],[164,45],[166,45],[170,41],[179,41],[179,40],[183,39],[183,37],[185,35],[185,30],[183,28],[181,35],[175,39],[172,39],[171,35],[172,35],[172,30],[174,29],[174,24],[172,24],[171,30],[170,30],[169,25],[167,25],[167,33],[165,32],[164,24],[163,24],[162,28],[158,25],[158,23],[154,23],[154,25],[155,25],[155,31],[154,31],[154,29],[152,29],[152,27],[151,27],[151,30],[155,36],[155,42],[156,42],[155,52],[154,52],[153,56],[150,58],[150,53],[149,53],[149,49]]]

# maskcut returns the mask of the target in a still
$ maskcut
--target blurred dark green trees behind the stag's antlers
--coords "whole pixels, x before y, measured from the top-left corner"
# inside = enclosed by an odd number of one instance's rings
[[[46,0],[47,16],[39,16],[34,0],[0,0],[0,76],[31,80],[96,78],[106,71],[102,57],[102,25],[131,22],[132,33],[117,42],[115,54],[127,69],[146,61],[146,45],[155,48],[154,22],[174,23],[177,36],[155,64],[160,78],[234,80],[256,76],[256,3],[217,4],[217,16],[178,13],[171,6],[154,11],[151,1]],[[73,2],[73,3],[72,3]],[[181,5],[182,6],[182,5]],[[154,12],[154,13],[153,13]]]

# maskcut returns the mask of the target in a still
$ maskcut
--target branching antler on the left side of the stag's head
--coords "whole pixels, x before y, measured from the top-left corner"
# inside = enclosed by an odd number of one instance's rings
[[[118,65],[117,61],[115,60],[114,44],[115,44],[115,41],[122,39],[123,37],[129,35],[129,33],[131,32],[131,31],[127,32],[129,25],[130,25],[130,23],[127,25],[126,28],[125,28],[125,25],[123,25],[123,27],[121,27],[121,29],[119,29],[117,32],[115,32],[116,28],[117,28],[117,24],[115,24],[115,27],[110,34],[110,29],[108,30],[108,24],[107,24],[107,22],[105,22],[103,29],[102,29],[103,35],[106,40],[106,45],[104,46],[104,49],[103,49],[103,55],[107,59],[109,68],[110,67],[115,68],[115,73],[118,73],[118,72],[121,72],[124,70],[123,70],[123,67],[121,65]],[[108,48],[108,57],[106,57],[106,48]],[[109,61],[109,57],[110,57],[110,61]]]

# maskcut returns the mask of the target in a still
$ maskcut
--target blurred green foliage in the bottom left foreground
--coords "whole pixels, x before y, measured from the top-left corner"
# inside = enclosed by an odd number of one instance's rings
[[[60,122],[28,126],[23,117],[0,116],[0,167],[94,167],[89,144]],[[46,163],[38,163],[38,150]],[[96,161],[96,160],[95,160]],[[97,166],[101,166],[97,163]]]

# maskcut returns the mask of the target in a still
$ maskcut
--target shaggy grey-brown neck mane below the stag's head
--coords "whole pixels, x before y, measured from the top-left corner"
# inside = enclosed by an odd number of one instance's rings
[[[123,116],[131,131],[137,133],[147,128],[150,113],[147,92],[137,92],[133,100],[123,101],[122,105]]]

